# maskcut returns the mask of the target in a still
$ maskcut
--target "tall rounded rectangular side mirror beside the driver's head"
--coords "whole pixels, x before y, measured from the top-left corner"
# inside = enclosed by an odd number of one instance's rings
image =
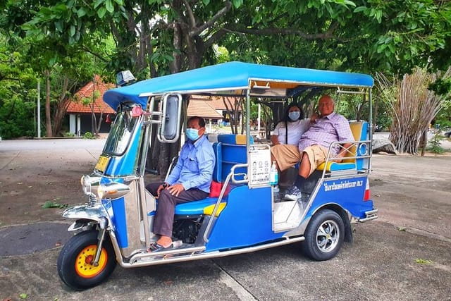
[[[182,95],[166,94],[163,97],[163,110],[159,140],[175,142],[180,136],[180,114],[182,113]]]

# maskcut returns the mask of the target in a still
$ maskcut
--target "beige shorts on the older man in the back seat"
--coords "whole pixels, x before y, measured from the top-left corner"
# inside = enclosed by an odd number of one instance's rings
[[[326,161],[328,149],[321,147],[321,145],[311,145],[304,149],[304,152],[309,157],[310,161],[310,173],[313,173],[320,164]],[[302,159],[302,153],[299,153],[299,149],[295,145],[274,145],[271,147],[271,154],[276,160],[280,171],[295,166]]]

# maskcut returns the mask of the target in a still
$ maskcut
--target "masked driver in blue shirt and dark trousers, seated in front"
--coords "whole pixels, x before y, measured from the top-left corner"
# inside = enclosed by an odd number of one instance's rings
[[[213,147],[204,133],[204,118],[194,116],[188,119],[186,130],[188,139],[171,174],[166,182],[150,183],[146,187],[158,198],[154,233],[160,235],[160,238],[151,245],[153,252],[172,246],[175,205],[209,196],[215,156]]]

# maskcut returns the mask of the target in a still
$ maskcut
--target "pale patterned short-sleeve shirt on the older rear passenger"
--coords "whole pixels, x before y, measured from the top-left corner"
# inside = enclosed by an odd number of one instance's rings
[[[354,141],[350,123],[338,113],[332,112],[327,116],[316,119],[309,130],[302,134],[299,140],[299,152],[311,145],[321,145],[328,149],[335,141]],[[338,154],[340,147],[334,147],[333,156]]]

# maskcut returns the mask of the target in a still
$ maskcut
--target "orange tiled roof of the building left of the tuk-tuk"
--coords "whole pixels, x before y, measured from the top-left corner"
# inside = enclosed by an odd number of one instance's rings
[[[97,91],[99,92],[99,97],[94,100],[94,113],[115,113],[115,111],[102,100],[102,97],[104,96],[106,90],[109,90],[113,87],[116,86],[102,82],[99,75],[95,75],[94,81],[88,82],[87,85],[85,85],[77,93],[75,93],[74,100],[73,102],[70,102],[67,112],[91,113],[91,106],[89,106],[88,104],[82,104],[82,99],[92,99],[94,91]]]

